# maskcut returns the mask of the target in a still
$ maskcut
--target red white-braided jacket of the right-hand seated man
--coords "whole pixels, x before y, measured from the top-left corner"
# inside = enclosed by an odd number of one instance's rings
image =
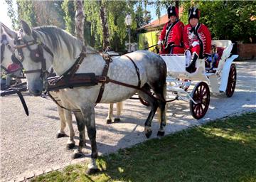
[[[199,58],[203,58],[204,55],[210,55],[210,31],[204,24],[198,23],[193,29],[190,24],[184,27],[183,43],[185,50],[191,49],[193,42],[198,42],[200,45]]]

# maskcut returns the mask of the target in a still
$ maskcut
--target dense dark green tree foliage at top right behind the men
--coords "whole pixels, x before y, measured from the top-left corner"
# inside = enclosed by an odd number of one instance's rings
[[[200,22],[206,24],[214,39],[256,43],[256,1],[196,1]],[[181,20],[188,23],[190,1],[183,2]]]

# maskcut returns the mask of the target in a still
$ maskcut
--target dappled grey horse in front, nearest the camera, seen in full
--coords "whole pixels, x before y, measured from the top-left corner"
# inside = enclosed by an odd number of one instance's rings
[[[43,61],[46,60],[46,69],[53,66],[57,75],[73,68],[76,58],[82,51],[82,43],[69,33],[53,26],[38,27],[31,29],[25,21],[21,21],[23,35],[16,39],[15,57],[21,61],[28,80],[28,90],[34,96],[40,96],[44,89]],[[16,36],[13,36],[16,38]],[[36,53],[36,54],[35,54]],[[35,55],[36,56],[35,58]],[[151,121],[156,109],[161,111],[161,122],[158,131],[159,136],[164,135],[164,126],[166,125],[164,91],[166,90],[166,63],[155,53],[145,50],[138,50],[129,53],[134,63],[126,56],[113,58],[109,65],[107,77],[102,82],[109,80],[105,84],[105,90],[102,95],[101,103],[114,103],[129,99],[134,93],[149,102],[151,111],[146,119],[144,132],[146,137],[151,136]],[[105,66],[105,60],[102,55],[97,53],[93,48],[86,47],[86,56],[76,73],[94,73],[102,75]],[[134,67],[137,66],[137,69]],[[139,70],[139,76],[138,71]],[[141,87],[137,85],[140,77]],[[114,81],[115,80],[115,81]],[[98,80],[100,82],[100,80]],[[122,82],[123,85],[114,82]],[[98,156],[96,144],[95,128],[95,102],[100,92],[101,83],[93,86],[64,88],[59,90],[60,100],[63,106],[76,109],[74,112],[78,130],[80,132],[80,143],[78,153],[82,152],[85,146],[85,126],[91,142],[92,154],[87,173],[99,171],[96,159]],[[126,85],[126,86],[124,86]],[[156,97],[148,93],[150,89],[154,91]]]

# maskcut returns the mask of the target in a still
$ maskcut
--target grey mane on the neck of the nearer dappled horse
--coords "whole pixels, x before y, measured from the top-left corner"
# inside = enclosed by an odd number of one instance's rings
[[[44,41],[48,41],[51,43],[51,47],[53,50],[59,50],[62,48],[63,43],[61,39],[64,41],[65,45],[68,47],[68,53],[73,55],[75,58],[75,53],[78,50],[82,50],[82,41],[80,41],[75,36],[72,36],[67,31],[64,31],[61,28],[56,26],[38,26],[32,29],[32,35],[34,38],[38,38],[40,35]],[[45,38],[47,40],[45,40]]]

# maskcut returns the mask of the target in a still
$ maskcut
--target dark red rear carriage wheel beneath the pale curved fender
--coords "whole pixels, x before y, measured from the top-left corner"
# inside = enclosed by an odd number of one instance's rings
[[[230,73],[228,75],[228,85],[225,91],[227,97],[232,97],[233,93],[235,92],[235,84],[236,84],[236,68],[235,64],[230,66]]]

